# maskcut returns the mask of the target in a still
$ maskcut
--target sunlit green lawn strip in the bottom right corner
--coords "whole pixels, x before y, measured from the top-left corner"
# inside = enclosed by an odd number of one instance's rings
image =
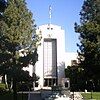
[[[88,92],[88,93],[82,93],[82,96],[84,98],[84,100],[89,100],[94,99],[94,100],[100,100],[100,92]]]

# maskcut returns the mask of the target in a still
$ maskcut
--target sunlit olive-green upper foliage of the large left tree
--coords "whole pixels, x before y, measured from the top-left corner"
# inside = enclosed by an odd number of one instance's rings
[[[8,41],[13,42],[15,46],[27,47],[33,42],[34,21],[32,13],[27,9],[24,1],[8,0],[7,9],[4,12],[4,22],[7,24],[5,35],[9,37]]]

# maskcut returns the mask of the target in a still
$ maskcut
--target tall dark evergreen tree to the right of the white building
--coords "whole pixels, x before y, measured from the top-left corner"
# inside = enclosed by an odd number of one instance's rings
[[[93,80],[94,82],[99,82],[100,0],[85,0],[80,16],[80,25],[75,23],[75,31],[80,33],[80,44],[77,44],[80,49],[78,51],[80,66],[86,73],[86,81]]]

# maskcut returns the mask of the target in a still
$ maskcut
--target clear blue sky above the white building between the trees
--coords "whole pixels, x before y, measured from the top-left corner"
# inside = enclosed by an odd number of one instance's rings
[[[74,31],[74,23],[79,23],[79,12],[84,0],[26,0],[27,7],[33,13],[38,26],[49,23],[49,5],[52,7],[51,23],[65,30],[66,52],[76,52],[79,43],[78,33]],[[58,34],[59,35],[59,34]]]

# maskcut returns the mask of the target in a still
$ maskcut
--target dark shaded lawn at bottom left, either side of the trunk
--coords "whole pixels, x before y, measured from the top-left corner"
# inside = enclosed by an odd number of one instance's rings
[[[13,100],[13,94],[9,92],[2,93],[0,94],[0,100]],[[17,100],[28,100],[28,94],[18,94]]]

